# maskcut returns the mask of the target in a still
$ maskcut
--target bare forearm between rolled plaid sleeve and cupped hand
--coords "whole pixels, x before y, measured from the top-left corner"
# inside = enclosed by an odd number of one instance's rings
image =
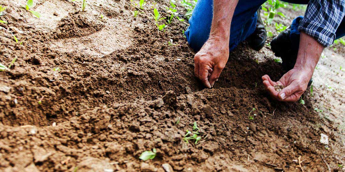
[[[313,37],[301,32],[299,50],[294,68],[310,71],[312,75],[324,48]]]

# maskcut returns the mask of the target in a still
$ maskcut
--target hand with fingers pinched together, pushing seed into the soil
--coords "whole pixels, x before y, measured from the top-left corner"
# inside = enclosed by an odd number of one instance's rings
[[[229,58],[229,42],[210,37],[194,56],[195,76],[207,87],[213,87]]]

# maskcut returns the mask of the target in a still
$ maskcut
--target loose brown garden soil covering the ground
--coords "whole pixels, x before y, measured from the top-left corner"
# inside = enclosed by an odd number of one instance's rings
[[[305,105],[278,102],[261,76],[278,80],[281,64],[269,47],[255,52],[243,43],[205,89],[183,37],[187,19],[165,31],[152,21],[152,6],[165,17],[169,1],[147,2],[136,18],[125,0],[90,1],[86,12],[81,1],[35,2],[40,19],[21,8],[22,0],[0,0],[8,22],[0,23],[0,63],[17,57],[0,72],[0,171],[344,170],[338,166],[345,164],[344,74],[320,69]],[[325,53],[344,63],[343,55]],[[323,77],[332,80],[333,95],[319,84]],[[314,110],[326,103],[334,110]],[[194,122],[197,145],[183,141]],[[321,133],[328,145],[319,142]],[[139,159],[153,148],[153,160]]]

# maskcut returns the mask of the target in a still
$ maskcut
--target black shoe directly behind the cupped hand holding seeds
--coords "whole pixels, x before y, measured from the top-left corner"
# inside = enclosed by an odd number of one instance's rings
[[[271,41],[271,49],[275,56],[282,58],[282,66],[285,72],[294,68],[298,53],[298,46],[293,46],[290,39],[290,31],[291,29],[288,27]],[[309,80],[308,86],[312,83],[313,78]]]

